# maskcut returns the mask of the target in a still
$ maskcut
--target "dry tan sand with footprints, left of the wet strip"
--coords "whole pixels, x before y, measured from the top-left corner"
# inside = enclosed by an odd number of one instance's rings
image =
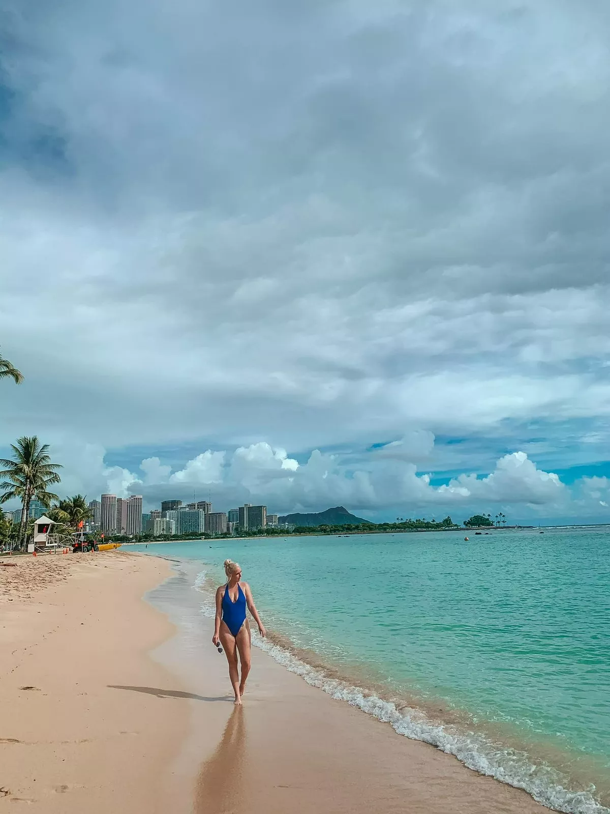
[[[2,558],[0,562],[11,562]],[[120,552],[0,566],[0,810],[168,812],[185,707],[148,656],[172,635],[142,595],[168,563]]]

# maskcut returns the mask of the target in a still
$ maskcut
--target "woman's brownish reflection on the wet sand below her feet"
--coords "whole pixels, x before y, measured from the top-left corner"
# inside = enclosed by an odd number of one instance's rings
[[[203,764],[195,789],[194,814],[232,814],[246,802],[246,721],[234,707],[216,751]]]

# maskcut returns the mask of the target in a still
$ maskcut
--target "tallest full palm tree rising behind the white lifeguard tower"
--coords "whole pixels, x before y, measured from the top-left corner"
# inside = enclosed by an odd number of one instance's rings
[[[6,467],[0,471],[0,504],[6,503],[15,497],[21,501],[21,522],[19,527],[19,541],[22,545],[26,524],[28,522],[29,505],[33,498],[41,501],[48,509],[51,501],[59,501],[59,497],[49,491],[49,486],[59,484],[61,480],[57,470],[61,469],[59,463],[51,463],[48,453],[49,444],[41,444],[37,435],[31,438],[25,435],[11,444],[14,456],[0,458],[0,466]]]

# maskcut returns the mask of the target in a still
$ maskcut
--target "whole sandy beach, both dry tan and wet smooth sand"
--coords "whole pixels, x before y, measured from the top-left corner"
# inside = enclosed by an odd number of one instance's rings
[[[548,810],[333,700],[260,650],[236,709],[224,656],[209,644],[211,619],[200,619],[196,652],[182,658],[176,637],[161,648],[163,666],[151,659],[172,634],[141,600],[168,575],[163,560],[20,558],[0,571],[19,575],[15,587],[0,573],[0,810]]]

